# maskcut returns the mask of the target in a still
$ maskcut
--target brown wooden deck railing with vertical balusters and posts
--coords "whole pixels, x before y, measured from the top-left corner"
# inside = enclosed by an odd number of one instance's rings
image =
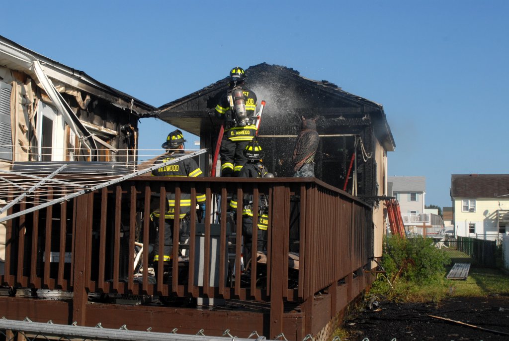
[[[56,195],[61,189],[52,190]],[[164,267],[159,262],[156,283],[147,276],[135,280],[132,271],[135,242],[143,243],[144,250],[149,250],[154,237],[150,213],[155,208],[165,211],[167,193],[177,197],[190,193],[191,207],[196,205],[197,194],[206,194],[203,246],[197,245],[199,239],[193,237],[197,216],[192,209],[191,256],[185,265],[178,261],[179,228],[174,225],[172,267],[182,271],[173,271],[171,280],[165,281]],[[233,264],[240,264],[242,244],[240,199],[232,231],[235,237],[227,238],[231,194],[237,194],[238,198],[252,194],[253,212],[258,212],[260,195],[266,195],[269,203],[266,269],[260,268],[265,265],[253,259],[250,279],[244,281],[239,280],[239,266],[229,273]],[[38,196],[33,200],[37,202]],[[30,205],[21,203],[13,209]],[[211,224],[217,217],[218,237],[211,236]],[[253,230],[255,226],[256,219]],[[158,233],[163,240],[164,231]],[[256,239],[253,233],[253,254],[257,251]],[[212,249],[214,243],[217,247]],[[298,271],[289,267],[289,251],[299,253]],[[73,291],[73,319],[78,324],[91,292],[270,299],[271,316],[280,317],[284,301],[303,302],[329,285],[337,284],[365,266],[372,253],[371,207],[319,180],[144,176],[8,221],[5,275],[1,280],[14,287]],[[203,264],[193,259],[199,255],[203,256]],[[143,268],[149,268],[149,253],[144,252],[141,258]],[[216,258],[216,262],[212,261]],[[212,264],[218,270],[211,268]],[[266,280],[260,280],[257,276],[260,273],[266,273]],[[200,283],[198,275],[203,279]],[[217,277],[217,285],[210,285],[211,276]],[[271,318],[271,324],[275,324],[271,329],[277,330],[280,323],[282,319]]]

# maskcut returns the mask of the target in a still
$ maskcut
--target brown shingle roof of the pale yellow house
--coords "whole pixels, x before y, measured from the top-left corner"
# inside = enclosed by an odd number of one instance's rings
[[[450,182],[451,198],[500,198],[509,194],[509,174],[453,174]]]

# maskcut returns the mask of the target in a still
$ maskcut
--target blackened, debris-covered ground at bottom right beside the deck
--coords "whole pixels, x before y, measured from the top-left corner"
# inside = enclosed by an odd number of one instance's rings
[[[439,304],[376,301],[369,306],[364,302],[345,321],[348,340],[509,340],[509,296],[455,297]]]

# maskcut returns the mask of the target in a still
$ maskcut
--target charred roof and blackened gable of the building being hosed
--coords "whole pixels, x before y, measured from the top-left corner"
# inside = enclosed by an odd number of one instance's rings
[[[247,68],[246,75],[246,85],[257,94],[258,102],[267,102],[264,117],[270,117],[272,123],[285,122],[291,117],[298,126],[301,115],[320,116],[327,127],[347,129],[369,123],[385,150],[394,150],[394,138],[381,104],[346,92],[326,80],[311,80],[285,66],[261,63]],[[227,88],[228,77],[224,77],[159,107],[160,118],[194,135],[209,134],[220,124],[214,117],[214,108]],[[273,134],[263,122],[261,134]]]

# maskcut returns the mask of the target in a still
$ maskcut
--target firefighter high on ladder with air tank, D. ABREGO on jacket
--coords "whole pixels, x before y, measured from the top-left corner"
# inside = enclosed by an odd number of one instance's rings
[[[246,75],[241,67],[230,71],[228,91],[223,94],[215,111],[223,120],[224,135],[221,141],[221,176],[238,176],[246,164],[243,151],[256,135],[256,94],[248,89]]]

